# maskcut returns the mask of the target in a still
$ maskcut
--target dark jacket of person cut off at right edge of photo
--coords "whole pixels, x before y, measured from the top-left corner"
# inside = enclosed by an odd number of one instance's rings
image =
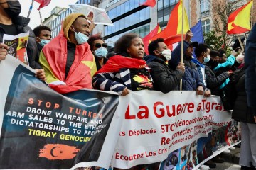
[[[245,89],[248,106],[256,116],[256,24],[248,36],[245,46]]]

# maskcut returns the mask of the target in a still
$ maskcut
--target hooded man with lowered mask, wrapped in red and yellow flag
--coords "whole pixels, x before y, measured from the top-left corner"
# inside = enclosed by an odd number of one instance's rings
[[[46,70],[47,83],[60,94],[92,89],[96,66],[87,43],[89,33],[86,17],[72,13],[63,21],[63,33],[41,51],[39,62]]]

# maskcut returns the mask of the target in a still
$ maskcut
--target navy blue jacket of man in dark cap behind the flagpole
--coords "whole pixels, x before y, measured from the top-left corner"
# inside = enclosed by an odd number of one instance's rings
[[[188,48],[188,42],[184,41],[183,52],[185,54],[186,49]],[[169,60],[169,67],[173,70],[178,66],[178,62],[181,61],[181,43],[175,48],[174,52],[171,53],[171,60]],[[185,73],[182,77],[182,90],[183,91],[195,91],[198,86],[203,86],[203,89],[206,89],[206,86],[203,84],[203,78],[198,73],[198,68],[196,64],[191,61],[183,60],[185,64]]]

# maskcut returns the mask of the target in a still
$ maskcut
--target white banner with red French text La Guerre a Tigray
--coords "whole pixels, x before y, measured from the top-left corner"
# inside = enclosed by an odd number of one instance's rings
[[[121,169],[161,162],[231,120],[218,96],[203,98],[195,91],[132,92],[124,117],[112,159]]]

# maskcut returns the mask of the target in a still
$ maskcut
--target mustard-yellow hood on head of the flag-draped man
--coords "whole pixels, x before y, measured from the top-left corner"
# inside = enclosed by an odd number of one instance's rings
[[[65,38],[67,38],[68,41],[70,41],[70,38],[68,37],[68,30],[73,22],[80,16],[85,17],[85,15],[82,13],[71,13],[63,20],[63,31]]]

